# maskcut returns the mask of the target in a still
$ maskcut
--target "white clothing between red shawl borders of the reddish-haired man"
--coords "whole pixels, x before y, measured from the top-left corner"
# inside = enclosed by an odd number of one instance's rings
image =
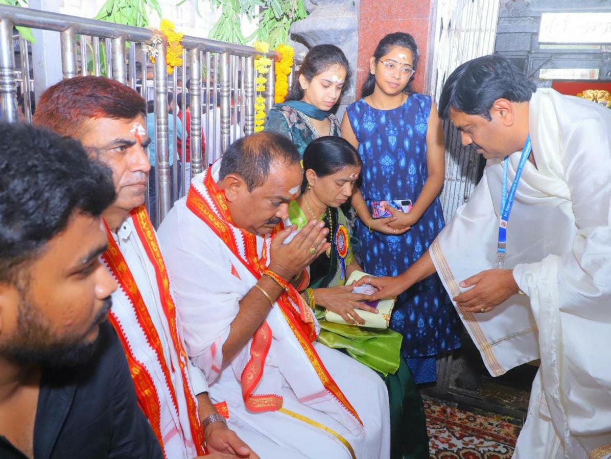
[[[142,299],[147,305],[153,325],[159,335],[161,352],[170,371],[171,381],[169,384],[174,386],[178,409],[174,407],[170,397],[166,377],[158,363],[155,350],[147,342],[146,336],[137,322],[134,306],[121,288],[112,294],[111,312],[121,327],[121,330],[117,330],[117,332],[125,336],[134,357],[145,366],[155,384],[156,395],[159,400],[161,435],[163,436],[163,447],[167,459],[192,459],[197,456],[197,450],[192,439],[191,424],[186,405],[187,394],[185,394],[183,388],[180,366],[178,365],[180,354],[175,349],[170,338],[170,325],[161,307],[155,268],[153,268],[147,257],[131,218],[126,219],[117,230],[117,234],[113,233],[112,236],[119,246],[123,258],[125,258],[125,262],[134,277]],[[180,330],[178,317],[177,321]],[[192,365],[191,362],[187,364],[187,368],[193,391],[191,396],[206,392],[208,384],[202,371]]]

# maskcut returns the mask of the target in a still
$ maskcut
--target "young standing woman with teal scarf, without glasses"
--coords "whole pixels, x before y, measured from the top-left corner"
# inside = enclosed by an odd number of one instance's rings
[[[287,100],[274,105],[265,130],[279,132],[303,155],[305,147],[323,135],[340,135],[331,109],[339,101],[351,76],[348,59],[332,44],[314,46],[299,68]]]

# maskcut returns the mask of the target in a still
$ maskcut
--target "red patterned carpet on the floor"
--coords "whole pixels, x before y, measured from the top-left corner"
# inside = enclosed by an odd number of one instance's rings
[[[426,398],[431,459],[510,459],[522,421]]]

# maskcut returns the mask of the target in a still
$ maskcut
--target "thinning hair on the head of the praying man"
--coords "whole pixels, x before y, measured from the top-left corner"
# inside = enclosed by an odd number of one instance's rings
[[[223,154],[219,180],[229,174],[240,176],[248,191],[265,183],[269,177],[272,163],[299,163],[301,156],[295,145],[284,137],[273,132],[259,132],[243,137],[232,143]]]

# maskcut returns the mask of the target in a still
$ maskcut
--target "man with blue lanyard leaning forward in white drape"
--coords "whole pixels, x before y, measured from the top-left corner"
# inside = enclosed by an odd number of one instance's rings
[[[485,56],[450,75],[439,113],[484,175],[417,263],[371,279],[376,296],[437,270],[492,375],[541,358],[514,457],[607,457],[611,110]]]

